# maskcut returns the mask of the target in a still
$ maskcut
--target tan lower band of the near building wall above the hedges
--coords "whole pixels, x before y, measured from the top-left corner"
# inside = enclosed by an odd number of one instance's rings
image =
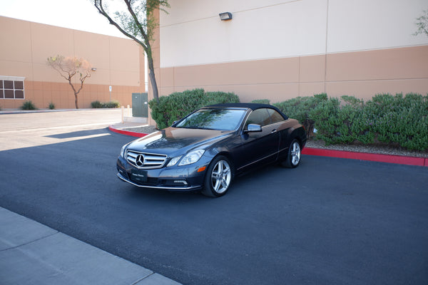
[[[205,88],[235,92],[243,102],[317,93],[365,100],[377,93],[425,95],[428,46],[161,68],[160,78],[161,95]]]

